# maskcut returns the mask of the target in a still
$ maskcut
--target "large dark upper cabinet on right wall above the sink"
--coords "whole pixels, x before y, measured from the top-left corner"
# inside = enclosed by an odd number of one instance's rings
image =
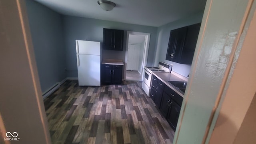
[[[171,30],[166,60],[191,64],[201,23]]]

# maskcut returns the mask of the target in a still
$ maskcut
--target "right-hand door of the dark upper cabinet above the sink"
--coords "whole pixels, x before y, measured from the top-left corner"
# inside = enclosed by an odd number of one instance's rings
[[[201,23],[188,26],[181,64],[192,64]]]

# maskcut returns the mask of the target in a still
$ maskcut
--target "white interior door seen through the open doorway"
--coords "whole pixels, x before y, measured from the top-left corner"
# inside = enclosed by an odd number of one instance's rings
[[[138,71],[140,59],[140,45],[129,44],[127,54],[127,70]]]

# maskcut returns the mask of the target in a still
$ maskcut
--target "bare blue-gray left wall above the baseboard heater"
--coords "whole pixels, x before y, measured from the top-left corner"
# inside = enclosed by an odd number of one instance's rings
[[[62,16],[26,0],[27,14],[42,92],[66,78]]]

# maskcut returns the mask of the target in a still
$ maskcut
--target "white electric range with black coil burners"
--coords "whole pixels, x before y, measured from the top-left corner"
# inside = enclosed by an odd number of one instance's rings
[[[170,67],[171,66],[171,67]],[[152,72],[171,72],[172,65],[159,62],[158,67],[145,66],[143,73],[142,89],[149,96],[150,86],[152,82]]]

